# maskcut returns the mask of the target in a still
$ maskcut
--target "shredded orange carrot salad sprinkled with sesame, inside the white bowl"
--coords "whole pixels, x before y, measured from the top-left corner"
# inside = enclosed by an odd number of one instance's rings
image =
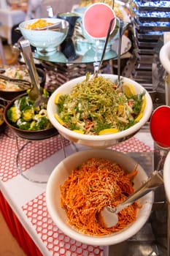
[[[138,203],[118,213],[114,227],[104,227],[100,211],[104,206],[117,206],[134,192],[133,178],[137,170],[127,173],[123,167],[108,159],[90,158],[61,185],[61,207],[69,225],[80,233],[104,236],[122,230],[136,220]]]

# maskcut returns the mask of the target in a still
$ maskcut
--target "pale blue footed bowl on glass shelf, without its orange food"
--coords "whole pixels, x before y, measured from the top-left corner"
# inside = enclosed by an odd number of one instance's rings
[[[40,55],[51,55],[56,52],[58,45],[61,45],[61,42],[66,38],[69,30],[69,23],[66,20],[58,18],[42,18],[42,20],[46,20],[50,23],[58,23],[58,21],[61,21],[62,28],[58,31],[27,29],[28,24],[35,23],[37,20],[39,19],[26,20],[23,23],[20,23],[20,32],[25,39],[28,39],[31,45],[36,47],[36,50]]]

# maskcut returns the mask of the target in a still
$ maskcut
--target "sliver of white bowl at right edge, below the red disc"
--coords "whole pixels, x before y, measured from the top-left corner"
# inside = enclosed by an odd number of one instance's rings
[[[170,203],[169,181],[170,181],[170,151],[166,156],[164,166],[163,166],[163,183],[164,183],[164,188],[165,188],[165,192],[166,192],[166,197]]]

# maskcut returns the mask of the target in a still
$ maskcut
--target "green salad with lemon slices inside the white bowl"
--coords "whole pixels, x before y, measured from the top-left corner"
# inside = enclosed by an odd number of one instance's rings
[[[142,118],[146,99],[144,93],[135,94],[134,87],[117,83],[102,76],[78,83],[69,94],[55,99],[58,116],[64,127],[86,135],[120,132]]]

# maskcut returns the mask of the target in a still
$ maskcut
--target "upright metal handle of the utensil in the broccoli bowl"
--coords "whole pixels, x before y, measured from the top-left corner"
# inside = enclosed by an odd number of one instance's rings
[[[40,94],[40,84],[39,84],[39,77],[36,72],[36,66],[34,64],[33,54],[31,52],[31,46],[28,40],[24,39],[19,42],[20,49],[23,52],[23,58],[26,61],[26,66],[28,68],[29,75],[31,77],[31,83],[34,86],[34,91],[36,94]]]

